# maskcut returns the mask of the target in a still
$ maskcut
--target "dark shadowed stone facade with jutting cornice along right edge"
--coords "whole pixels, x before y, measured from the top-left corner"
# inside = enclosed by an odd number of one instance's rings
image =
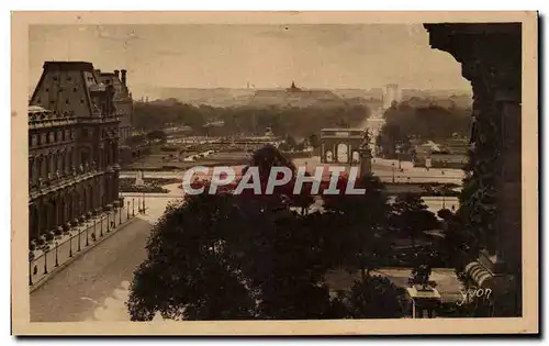
[[[485,179],[481,186],[488,183],[495,194],[494,232],[483,235],[481,245],[485,249],[468,267],[474,269],[474,277],[483,278],[480,286],[494,287],[493,315],[520,316],[522,26],[482,23],[425,27],[433,48],[448,52],[461,63],[462,76],[471,81],[474,93],[474,123],[488,124],[475,126],[471,145],[477,153],[492,156],[492,175],[478,179]],[[488,139],[489,135],[494,141]]]

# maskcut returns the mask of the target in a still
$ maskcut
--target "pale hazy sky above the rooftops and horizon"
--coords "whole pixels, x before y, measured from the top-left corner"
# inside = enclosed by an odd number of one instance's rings
[[[30,90],[45,60],[127,69],[134,98],[159,87],[471,90],[422,24],[33,25]]]

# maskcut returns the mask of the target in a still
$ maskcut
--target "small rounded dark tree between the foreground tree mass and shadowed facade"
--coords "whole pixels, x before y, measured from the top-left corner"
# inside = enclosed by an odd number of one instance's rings
[[[423,231],[438,226],[435,214],[427,210],[427,205],[417,194],[397,196],[392,209],[392,224],[411,238],[413,248],[416,247],[416,239]]]

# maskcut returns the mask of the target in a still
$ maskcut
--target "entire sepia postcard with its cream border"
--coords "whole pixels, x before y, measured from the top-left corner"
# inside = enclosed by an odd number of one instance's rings
[[[13,13],[14,333],[537,333],[537,21]]]

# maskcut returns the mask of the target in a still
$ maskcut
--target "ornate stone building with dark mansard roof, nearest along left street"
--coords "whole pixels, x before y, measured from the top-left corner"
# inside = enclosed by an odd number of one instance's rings
[[[91,63],[44,64],[29,108],[31,239],[117,203],[115,88]]]

